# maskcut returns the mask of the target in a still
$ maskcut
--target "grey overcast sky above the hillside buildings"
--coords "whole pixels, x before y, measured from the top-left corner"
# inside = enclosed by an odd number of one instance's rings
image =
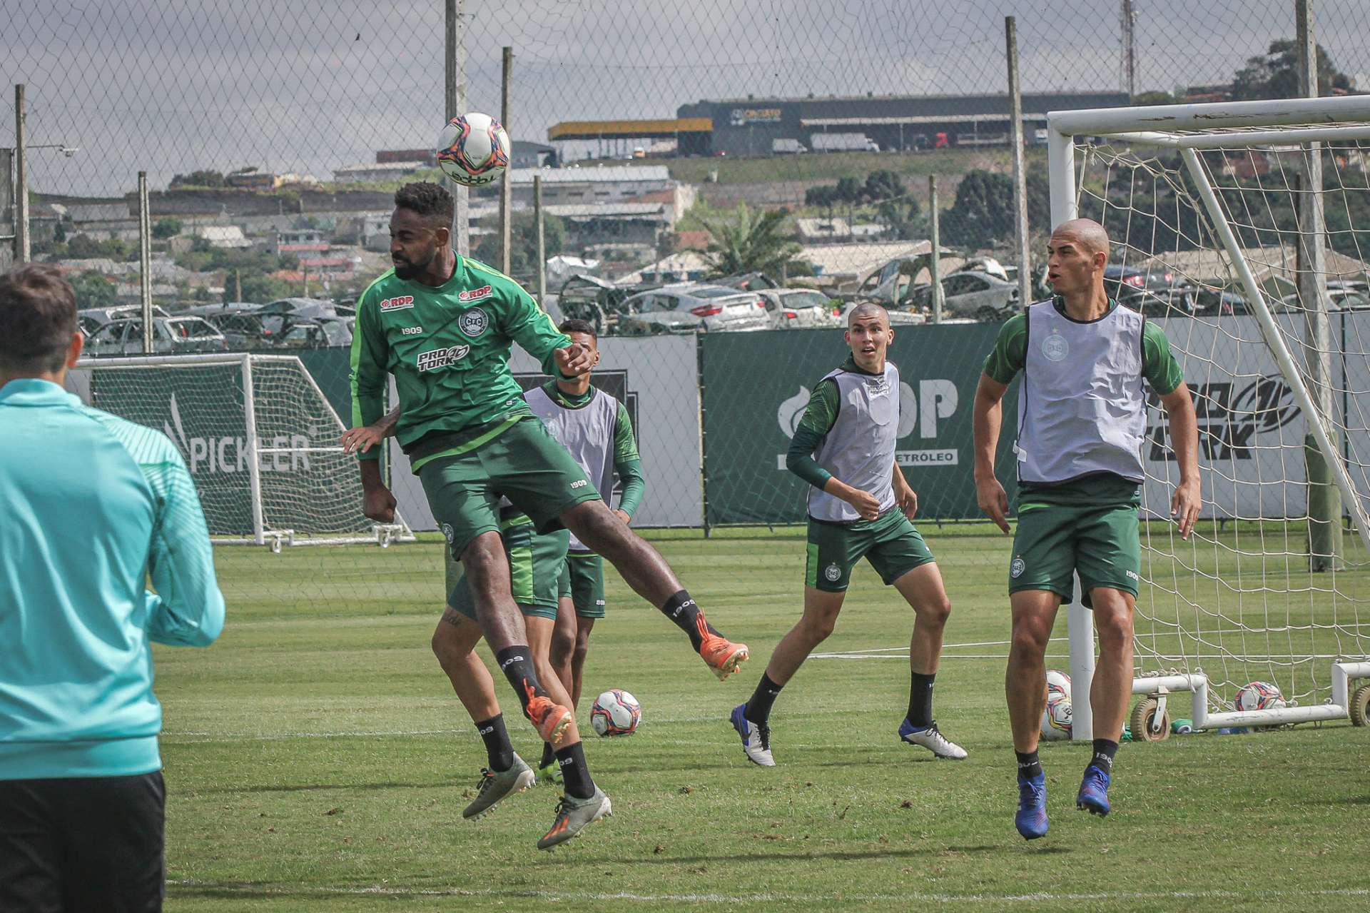
[[[1134,0],[1138,88],[1219,82],[1278,37],[1293,0]],[[674,117],[712,97],[1004,90],[1017,16],[1025,92],[1118,89],[1117,0],[466,0],[469,107],[511,133]],[[1370,88],[1370,0],[1315,0],[1337,66]],[[138,170],[248,165],[323,180],[443,125],[443,0],[0,0],[3,82],[27,84],[30,182],[118,195]],[[14,123],[4,92],[0,133]],[[4,140],[0,143],[10,144]]]

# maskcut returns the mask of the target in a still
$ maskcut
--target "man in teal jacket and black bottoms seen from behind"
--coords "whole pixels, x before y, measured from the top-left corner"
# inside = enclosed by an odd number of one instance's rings
[[[4,910],[160,906],[151,644],[203,647],[223,628],[181,454],[64,392],[79,354],[75,299],[55,269],[0,277]]]

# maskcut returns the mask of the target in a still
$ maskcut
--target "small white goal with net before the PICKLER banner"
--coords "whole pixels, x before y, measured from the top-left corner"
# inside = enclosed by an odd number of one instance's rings
[[[344,425],[299,358],[190,355],[81,362],[88,403],[167,435],[195,480],[219,543],[388,546],[404,521],[362,514]]]

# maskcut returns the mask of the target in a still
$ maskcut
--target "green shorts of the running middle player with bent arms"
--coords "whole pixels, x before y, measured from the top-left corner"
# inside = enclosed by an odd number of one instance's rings
[[[804,583],[823,592],[845,592],[852,566],[866,558],[885,585],[933,561],[927,543],[897,507],[875,520],[830,524],[808,518]]]

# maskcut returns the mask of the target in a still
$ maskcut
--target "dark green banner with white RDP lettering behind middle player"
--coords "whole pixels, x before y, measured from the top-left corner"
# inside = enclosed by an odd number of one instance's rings
[[[899,367],[899,450],[919,515],[975,520],[971,404],[999,324],[901,326],[889,358]],[[785,451],[814,385],[847,358],[843,332],[700,334],[704,502],[710,526],[801,522],[807,485]],[[997,467],[1014,495],[1018,384],[1004,398]]]

